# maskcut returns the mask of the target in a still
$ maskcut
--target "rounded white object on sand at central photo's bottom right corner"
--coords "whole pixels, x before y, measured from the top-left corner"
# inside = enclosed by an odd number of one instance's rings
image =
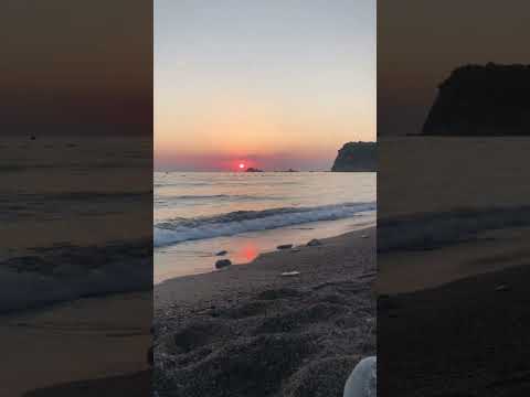
[[[378,394],[378,358],[361,360],[344,385],[343,397],[375,397]]]

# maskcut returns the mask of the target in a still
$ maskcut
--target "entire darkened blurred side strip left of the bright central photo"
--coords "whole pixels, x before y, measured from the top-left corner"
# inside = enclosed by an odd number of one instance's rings
[[[0,15],[0,394],[147,396],[152,1]]]

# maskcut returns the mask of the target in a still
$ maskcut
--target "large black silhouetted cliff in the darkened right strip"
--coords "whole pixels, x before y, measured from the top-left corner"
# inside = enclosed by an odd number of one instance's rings
[[[530,66],[467,65],[438,87],[423,135],[530,135]]]

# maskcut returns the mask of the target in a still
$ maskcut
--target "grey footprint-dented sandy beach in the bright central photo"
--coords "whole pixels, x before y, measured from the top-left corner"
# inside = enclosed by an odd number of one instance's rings
[[[375,354],[375,228],[321,243],[156,286],[159,395],[341,396]]]

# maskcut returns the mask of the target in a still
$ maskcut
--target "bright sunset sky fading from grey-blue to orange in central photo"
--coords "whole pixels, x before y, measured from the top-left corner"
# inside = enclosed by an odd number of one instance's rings
[[[155,0],[156,169],[329,169],[374,139],[374,0]]]

